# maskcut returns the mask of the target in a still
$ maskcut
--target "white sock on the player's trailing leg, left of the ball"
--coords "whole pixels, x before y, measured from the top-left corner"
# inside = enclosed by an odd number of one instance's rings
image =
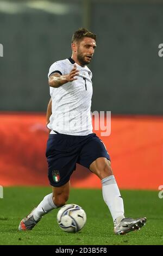
[[[43,215],[47,214],[49,211],[57,208],[53,203],[53,193],[47,194],[37,208],[33,211],[33,217],[35,221],[38,221]]]

